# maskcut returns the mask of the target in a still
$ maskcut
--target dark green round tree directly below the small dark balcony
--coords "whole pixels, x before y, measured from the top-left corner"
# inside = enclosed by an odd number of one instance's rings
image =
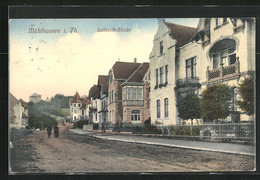
[[[188,93],[177,98],[178,116],[184,120],[201,118],[201,105],[198,94]]]

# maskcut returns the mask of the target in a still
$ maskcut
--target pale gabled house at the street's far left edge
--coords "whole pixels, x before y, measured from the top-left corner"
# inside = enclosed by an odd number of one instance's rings
[[[17,100],[9,94],[9,127],[25,128],[28,126],[28,104],[22,99]]]

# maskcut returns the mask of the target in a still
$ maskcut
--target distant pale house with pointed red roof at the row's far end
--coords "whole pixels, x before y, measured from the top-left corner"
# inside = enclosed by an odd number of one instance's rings
[[[76,92],[73,98],[70,98],[70,118],[72,122],[79,120],[88,120],[87,106],[90,104],[88,97],[80,97],[79,93]]]

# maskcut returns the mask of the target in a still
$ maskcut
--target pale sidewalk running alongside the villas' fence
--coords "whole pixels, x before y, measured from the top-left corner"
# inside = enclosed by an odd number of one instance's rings
[[[175,140],[175,139],[163,139],[163,138],[131,136],[131,135],[121,136],[121,135],[96,134],[81,129],[70,129],[70,131],[78,134],[87,134],[92,137],[114,140],[114,141],[150,144],[150,145],[157,145],[157,146],[167,146],[167,147],[194,149],[194,150],[202,150],[202,151],[223,152],[223,153],[231,153],[231,154],[250,155],[250,156],[255,155],[255,146],[252,145]]]

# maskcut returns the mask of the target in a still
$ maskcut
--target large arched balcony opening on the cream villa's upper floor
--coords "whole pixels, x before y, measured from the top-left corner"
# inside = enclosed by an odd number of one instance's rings
[[[236,62],[236,42],[232,39],[217,42],[210,49],[209,56],[213,60],[213,69],[234,64]]]

